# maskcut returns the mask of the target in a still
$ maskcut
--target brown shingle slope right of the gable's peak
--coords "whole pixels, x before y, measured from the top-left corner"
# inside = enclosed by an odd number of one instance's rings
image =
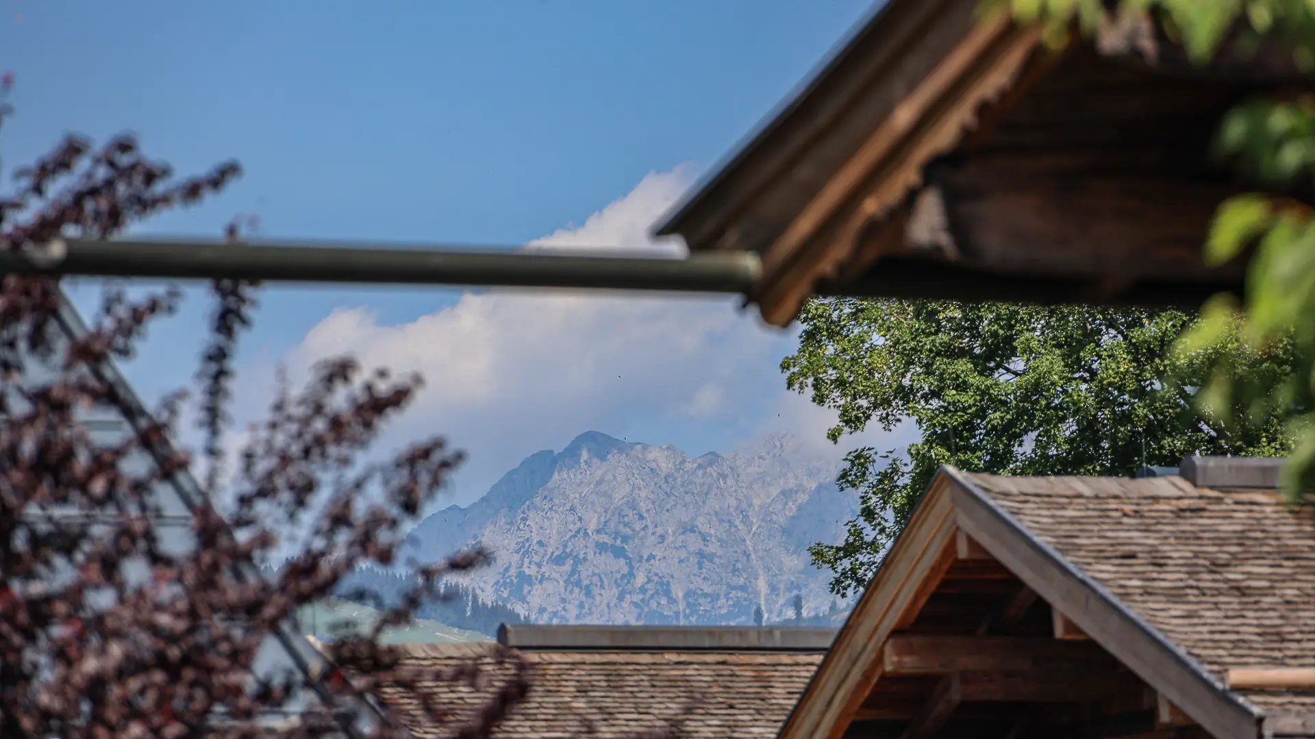
[[[1182,477],[968,475],[1220,681],[1228,669],[1315,667],[1315,521],[1274,492]],[[1315,692],[1245,692],[1315,710]]]

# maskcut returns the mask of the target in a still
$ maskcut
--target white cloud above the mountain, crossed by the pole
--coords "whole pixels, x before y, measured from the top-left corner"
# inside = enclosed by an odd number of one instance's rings
[[[689,187],[684,168],[650,174],[584,225],[530,249],[661,250],[650,227]],[[794,331],[764,326],[730,297],[488,291],[398,325],[367,308],[338,309],[289,352],[293,376],[313,360],[351,352],[367,366],[419,371],[426,388],[394,441],[444,434],[469,452],[460,500],[483,493],[501,472],[540,448],[562,448],[585,430],[676,434],[729,448],[778,429],[834,454],[825,429],[834,413],[785,389],[781,356]],[[697,434],[696,434],[697,431]],[[633,438],[655,444],[681,438]]]

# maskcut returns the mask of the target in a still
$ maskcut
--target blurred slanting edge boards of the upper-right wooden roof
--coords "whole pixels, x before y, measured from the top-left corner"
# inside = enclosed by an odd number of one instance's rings
[[[977,7],[890,0],[656,233],[684,235],[693,251],[760,254],[763,277],[748,297],[768,323],[788,325],[1035,57],[1039,29],[1006,16],[978,21]]]

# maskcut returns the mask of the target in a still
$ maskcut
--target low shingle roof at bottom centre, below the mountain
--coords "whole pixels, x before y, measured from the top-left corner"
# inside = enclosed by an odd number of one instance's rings
[[[430,682],[456,721],[483,705],[509,676],[498,667],[492,643],[405,644],[406,668],[442,668],[477,660],[490,676],[473,689],[456,682]],[[664,728],[680,721],[692,738],[776,736],[794,707],[822,652],[707,651],[525,651],[533,665],[530,693],[493,736],[554,739],[586,735],[597,739]],[[350,667],[348,667],[350,669]],[[385,688],[379,698],[400,714],[421,739],[446,736],[447,727],[427,725],[418,698]],[[688,709],[686,709],[688,706]],[[684,717],[681,714],[685,713]],[[592,726],[590,726],[592,723]]]

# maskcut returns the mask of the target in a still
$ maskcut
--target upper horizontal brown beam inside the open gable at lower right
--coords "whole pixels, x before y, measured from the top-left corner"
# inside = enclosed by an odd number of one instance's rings
[[[882,651],[889,676],[947,675],[960,671],[1110,669],[1118,663],[1091,642],[1044,636],[940,636],[893,634]]]

